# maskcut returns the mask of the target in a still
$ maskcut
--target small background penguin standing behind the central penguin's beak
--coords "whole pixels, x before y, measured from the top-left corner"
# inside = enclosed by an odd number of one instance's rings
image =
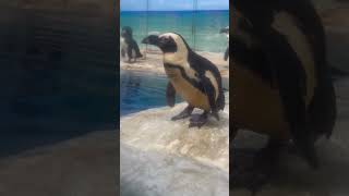
[[[132,28],[130,26],[122,27],[121,37],[121,57],[125,58],[125,54],[129,57],[129,62],[134,59],[134,62],[137,58],[142,58],[137,42],[133,39]]]

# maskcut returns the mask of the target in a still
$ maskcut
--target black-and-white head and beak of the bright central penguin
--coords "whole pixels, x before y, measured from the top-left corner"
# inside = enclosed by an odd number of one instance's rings
[[[174,63],[183,61],[191,51],[184,38],[176,33],[161,35],[149,35],[142,40],[142,44],[154,45],[164,52],[166,62]]]

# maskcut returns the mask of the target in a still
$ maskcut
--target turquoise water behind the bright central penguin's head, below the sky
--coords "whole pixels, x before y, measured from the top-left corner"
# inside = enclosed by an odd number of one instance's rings
[[[219,34],[229,25],[229,11],[123,11],[120,12],[120,30],[131,26],[135,40],[148,34],[176,32],[181,34],[194,50],[224,52],[227,37]]]

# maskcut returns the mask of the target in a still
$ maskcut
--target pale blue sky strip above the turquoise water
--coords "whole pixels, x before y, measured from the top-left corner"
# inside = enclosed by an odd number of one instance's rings
[[[121,11],[145,11],[147,0],[120,0]],[[193,10],[194,0],[148,0],[149,11]],[[197,10],[229,10],[229,0],[197,0]]]

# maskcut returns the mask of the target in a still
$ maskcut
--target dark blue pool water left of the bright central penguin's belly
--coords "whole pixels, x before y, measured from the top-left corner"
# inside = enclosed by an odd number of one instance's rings
[[[165,75],[121,71],[120,115],[166,106],[167,83]],[[176,100],[181,101],[179,97]]]

